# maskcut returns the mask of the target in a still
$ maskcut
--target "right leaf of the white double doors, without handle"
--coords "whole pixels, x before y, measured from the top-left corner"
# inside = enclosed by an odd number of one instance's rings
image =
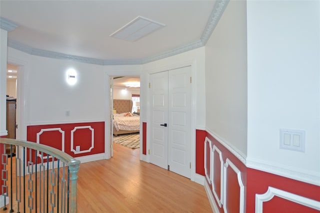
[[[168,73],[168,165],[172,172],[190,178],[191,68]]]

